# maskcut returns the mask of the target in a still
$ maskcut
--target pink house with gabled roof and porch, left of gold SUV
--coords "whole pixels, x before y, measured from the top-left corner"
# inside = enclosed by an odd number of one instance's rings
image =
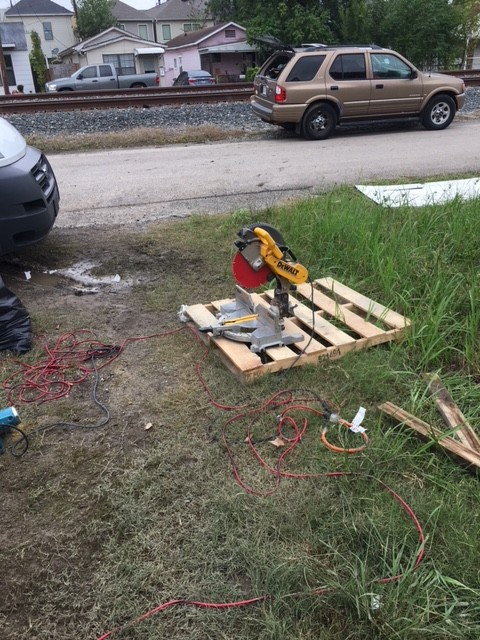
[[[245,29],[235,22],[189,31],[166,45],[165,86],[170,87],[182,71],[204,69],[217,82],[238,82],[255,66],[256,49],[246,41]]]

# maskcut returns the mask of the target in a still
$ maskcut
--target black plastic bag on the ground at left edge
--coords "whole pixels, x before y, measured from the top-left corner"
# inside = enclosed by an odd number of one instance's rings
[[[32,323],[27,310],[0,276],[0,351],[26,353],[32,348]]]

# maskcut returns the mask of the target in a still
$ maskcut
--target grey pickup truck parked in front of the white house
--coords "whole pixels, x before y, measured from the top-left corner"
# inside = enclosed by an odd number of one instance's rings
[[[102,89],[133,89],[135,87],[158,87],[160,77],[156,73],[134,73],[118,75],[110,63],[90,64],[82,67],[69,78],[57,78],[45,84],[52,91],[100,91]]]

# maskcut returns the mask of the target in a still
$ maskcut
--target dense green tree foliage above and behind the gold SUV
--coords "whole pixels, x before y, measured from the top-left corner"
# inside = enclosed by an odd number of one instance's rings
[[[375,43],[428,69],[446,68],[461,57],[462,41],[465,51],[474,48],[479,4],[480,0],[210,0],[209,8],[219,20],[246,27],[250,41],[268,33],[297,45]]]

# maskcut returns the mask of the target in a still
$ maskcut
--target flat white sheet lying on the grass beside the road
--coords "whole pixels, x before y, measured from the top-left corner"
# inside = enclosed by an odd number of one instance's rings
[[[423,207],[429,204],[443,204],[455,198],[480,198],[480,178],[385,186],[357,184],[356,188],[367,198],[384,207]]]

